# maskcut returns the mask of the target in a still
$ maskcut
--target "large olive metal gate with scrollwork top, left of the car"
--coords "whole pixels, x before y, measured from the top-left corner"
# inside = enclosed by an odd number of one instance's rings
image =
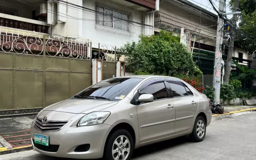
[[[0,38],[0,116],[36,113],[91,85],[91,43],[38,35]]]

